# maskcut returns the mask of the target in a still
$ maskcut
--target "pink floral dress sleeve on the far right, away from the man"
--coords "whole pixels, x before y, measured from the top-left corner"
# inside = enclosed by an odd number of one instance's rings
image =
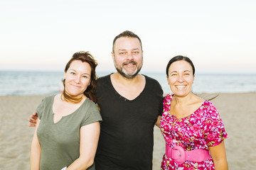
[[[208,147],[219,145],[225,138],[228,138],[227,132],[220,118],[217,108],[213,103],[208,102],[205,106],[204,112],[206,114],[203,130]]]

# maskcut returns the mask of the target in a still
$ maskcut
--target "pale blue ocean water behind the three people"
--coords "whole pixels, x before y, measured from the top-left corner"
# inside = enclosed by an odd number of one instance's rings
[[[97,72],[105,76],[110,72]],[[171,93],[163,73],[142,72],[159,81],[164,94]],[[0,71],[0,96],[45,95],[58,93],[63,72]],[[194,93],[256,92],[256,74],[196,74]]]

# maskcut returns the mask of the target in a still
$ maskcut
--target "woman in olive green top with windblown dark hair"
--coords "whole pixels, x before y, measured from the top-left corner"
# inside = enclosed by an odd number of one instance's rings
[[[95,99],[97,62],[76,52],[65,67],[64,91],[47,96],[37,108],[31,169],[95,169],[102,120]]]

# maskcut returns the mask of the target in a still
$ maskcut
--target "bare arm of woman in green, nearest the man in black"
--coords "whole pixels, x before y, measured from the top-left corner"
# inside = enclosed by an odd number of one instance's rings
[[[91,123],[80,128],[80,157],[70,164],[67,170],[87,169],[93,164],[99,137],[99,122]]]

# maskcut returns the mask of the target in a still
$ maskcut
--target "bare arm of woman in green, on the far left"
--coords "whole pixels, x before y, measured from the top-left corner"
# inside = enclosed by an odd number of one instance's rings
[[[39,169],[40,167],[40,159],[41,159],[41,145],[37,137],[37,130],[40,120],[38,119],[36,122],[36,129],[33,135],[33,140],[31,144],[31,156],[30,156],[30,164],[31,170]]]

